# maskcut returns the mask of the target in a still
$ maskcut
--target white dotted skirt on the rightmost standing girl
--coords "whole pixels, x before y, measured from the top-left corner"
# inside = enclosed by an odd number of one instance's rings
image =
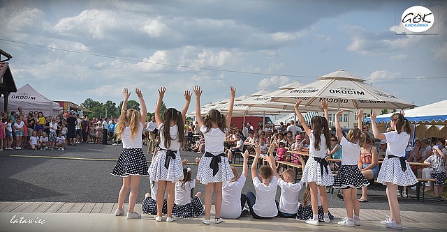
[[[415,185],[418,179],[411,171],[410,165],[405,161],[406,171],[402,171],[399,158],[386,158],[380,167],[377,183],[386,185],[387,182],[400,186]]]

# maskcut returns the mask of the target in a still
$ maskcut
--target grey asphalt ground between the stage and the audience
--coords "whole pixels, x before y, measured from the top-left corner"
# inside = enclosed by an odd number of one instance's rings
[[[64,151],[0,151],[0,201],[117,202],[122,178],[110,175],[110,171],[115,167],[121,150],[122,146],[78,144],[68,146]],[[147,150],[147,146],[143,146],[143,150]],[[181,156],[193,163],[201,154],[184,151]],[[188,166],[196,176],[197,166]],[[238,169],[242,172],[242,167]],[[250,174],[247,179],[243,192],[254,192]],[[204,192],[204,185],[196,185],[195,191]],[[149,177],[141,178],[138,202],[144,199],[146,192],[149,192]],[[278,188],[277,199],[279,195]],[[368,200],[360,207],[388,209],[383,185],[370,186]],[[343,201],[336,194],[328,194],[328,201],[330,208],[344,208]],[[401,210],[447,211],[447,201],[437,203],[433,196],[427,196],[425,202],[416,201],[413,190],[409,190],[409,198],[400,198],[399,201]]]

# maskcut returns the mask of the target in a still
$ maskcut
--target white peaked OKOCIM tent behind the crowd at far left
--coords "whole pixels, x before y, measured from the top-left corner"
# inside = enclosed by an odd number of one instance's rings
[[[17,111],[18,107],[22,107],[25,114],[28,114],[29,111],[42,111],[44,116],[57,116],[59,114],[59,104],[45,98],[29,84],[17,89],[17,93],[10,93],[9,95],[9,111]],[[0,98],[0,111],[4,111],[3,108],[3,98]]]

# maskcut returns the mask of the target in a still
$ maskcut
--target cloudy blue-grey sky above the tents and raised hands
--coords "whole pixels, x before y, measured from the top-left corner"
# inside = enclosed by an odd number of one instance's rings
[[[416,5],[435,17],[422,35],[400,24]],[[76,104],[140,88],[154,111],[166,86],[181,110],[196,85],[205,105],[344,69],[422,106],[447,99],[446,14],[447,1],[0,0],[0,48],[17,88]]]

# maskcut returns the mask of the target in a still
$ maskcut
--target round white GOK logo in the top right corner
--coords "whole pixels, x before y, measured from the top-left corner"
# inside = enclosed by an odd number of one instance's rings
[[[434,23],[434,15],[424,6],[411,6],[402,13],[402,25],[411,32],[424,32]]]

